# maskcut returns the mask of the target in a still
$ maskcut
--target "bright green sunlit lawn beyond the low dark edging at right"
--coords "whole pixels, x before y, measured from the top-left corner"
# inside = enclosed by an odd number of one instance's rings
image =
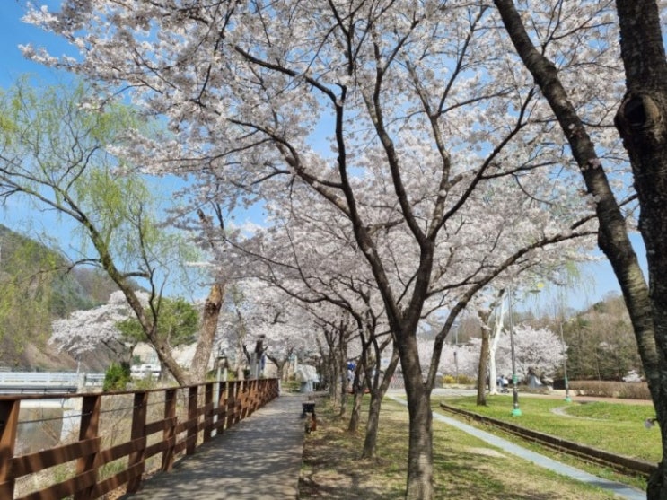
[[[644,421],[654,417],[654,408],[626,403],[566,403],[561,399],[543,399],[521,395],[522,416],[513,417],[512,397],[489,396],[487,407],[478,407],[475,397],[434,400],[473,411],[480,415],[562,437],[645,461],[658,462],[662,456],[660,430],[646,429]]]

